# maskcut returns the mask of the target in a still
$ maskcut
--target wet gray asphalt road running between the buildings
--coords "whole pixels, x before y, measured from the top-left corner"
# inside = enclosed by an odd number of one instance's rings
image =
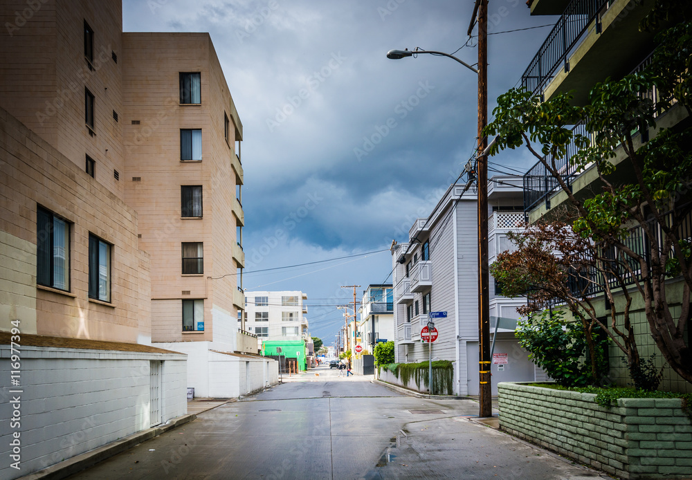
[[[561,459],[552,459],[558,462],[553,466],[542,450],[459,418],[477,414],[472,400],[402,396],[371,383],[372,377],[337,373],[318,367],[309,376],[203,412],[69,478],[582,478],[581,468]],[[483,450],[513,456],[500,463]]]

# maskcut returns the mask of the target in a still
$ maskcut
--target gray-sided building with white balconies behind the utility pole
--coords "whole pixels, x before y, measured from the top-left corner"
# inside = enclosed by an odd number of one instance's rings
[[[520,228],[523,221],[521,180],[516,176],[495,176],[489,181],[491,262],[498,252],[511,248],[507,233]],[[476,195],[464,192],[464,185],[454,184],[427,218],[416,219],[408,241],[392,245],[395,361],[428,360],[429,344],[421,341],[421,329],[428,323],[428,313],[446,312],[445,318],[435,319],[438,337],[432,343],[430,356],[453,362],[456,395],[478,394],[477,228]],[[525,299],[502,297],[492,277],[490,283],[494,394],[499,381],[543,380],[545,374],[529,362],[513,329],[499,328],[495,333],[498,319],[504,319],[499,323],[503,326],[518,318],[516,308]]]

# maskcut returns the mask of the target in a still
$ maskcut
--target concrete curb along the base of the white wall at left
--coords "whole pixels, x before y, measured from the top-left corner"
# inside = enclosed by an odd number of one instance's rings
[[[67,460],[60,463],[55,463],[48,468],[39,470],[38,472],[33,472],[24,477],[20,477],[17,480],[59,480],[69,477],[72,474],[81,472],[86,468],[89,468],[96,463],[108,459],[109,457],[124,452],[138,443],[153,439],[155,436],[159,436],[169,430],[173,430],[175,427],[184,425],[190,421],[197,418],[196,414],[185,414],[177,418],[173,418],[164,425],[149,428],[147,430],[142,430],[141,432],[136,432],[124,439],[116,440],[101,447],[95,448],[94,450],[89,450],[89,452],[84,452],[79,455],[75,455]]]

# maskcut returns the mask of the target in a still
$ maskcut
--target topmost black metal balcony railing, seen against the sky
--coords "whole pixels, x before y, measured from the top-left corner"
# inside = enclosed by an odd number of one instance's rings
[[[570,70],[567,59],[588,26],[608,8],[612,0],[574,0],[565,9],[538,49],[521,77],[521,84],[531,93],[543,93],[561,64]],[[597,26],[599,28],[599,26]]]

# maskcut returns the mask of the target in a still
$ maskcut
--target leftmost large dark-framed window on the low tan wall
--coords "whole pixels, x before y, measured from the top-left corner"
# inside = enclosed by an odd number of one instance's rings
[[[36,283],[69,290],[70,225],[41,207],[36,212]]]

